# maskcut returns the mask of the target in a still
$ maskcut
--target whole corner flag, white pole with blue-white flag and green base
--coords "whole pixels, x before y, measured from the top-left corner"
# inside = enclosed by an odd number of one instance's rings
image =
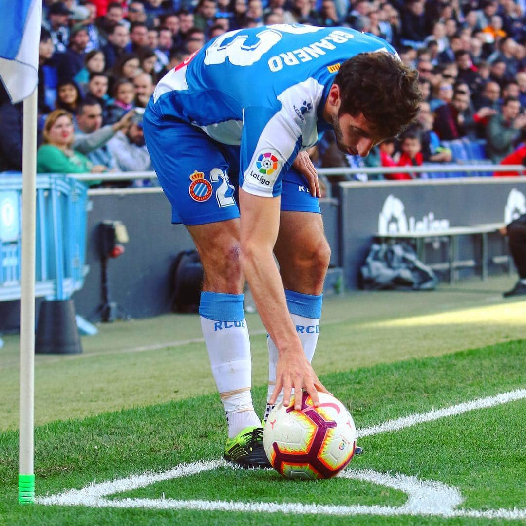
[[[6,2],[3,2],[6,4]],[[18,501],[35,502],[34,358],[36,136],[42,0],[16,0],[0,17],[0,79],[13,104],[24,100],[22,139],[22,306]]]

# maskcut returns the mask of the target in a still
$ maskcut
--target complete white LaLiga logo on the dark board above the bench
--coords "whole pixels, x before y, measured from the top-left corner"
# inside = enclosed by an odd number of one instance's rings
[[[428,212],[422,219],[417,220],[416,217],[410,216],[408,220],[402,200],[393,195],[387,197],[378,217],[378,233],[382,236],[447,228],[449,228],[449,219],[435,219],[433,212]]]

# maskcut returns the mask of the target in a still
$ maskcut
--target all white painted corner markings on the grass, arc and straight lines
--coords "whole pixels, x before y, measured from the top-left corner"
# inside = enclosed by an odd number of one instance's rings
[[[427,413],[413,414],[396,420],[389,420],[379,426],[358,430],[359,437],[373,436],[385,431],[396,431],[418,423],[438,420],[456,414],[489,408],[499,404],[526,398],[526,389],[515,389],[493,397],[479,398],[470,402],[457,404]],[[110,495],[147,487],[156,482],[179,477],[188,477],[204,471],[214,470],[223,466],[232,467],[224,460],[198,461],[191,464],[179,464],[162,473],[143,473],[127,478],[106,482],[93,482],[80,490],[72,489],[58,495],[38,497],[36,502],[45,505],[88,506],[93,508],[146,508],[160,510],[197,510],[197,511],[237,511],[259,513],[293,513],[293,514],[324,514],[324,515],[413,515],[434,516],[443,518],[470,517],[485,519],[526,519],[526,509],[512,510],[466,510],[457,509],[463,501],[457,488],[433,481],[420,480],[404,474],[379,473],[373,470],[348,469],[339,474],[345,479],[364,480],[385,485],[403,491],[408,500],[401,506],[361,505],[351,506],[276,503],[276,502],[226,502],[204,500],[176,499],[107,499]]]

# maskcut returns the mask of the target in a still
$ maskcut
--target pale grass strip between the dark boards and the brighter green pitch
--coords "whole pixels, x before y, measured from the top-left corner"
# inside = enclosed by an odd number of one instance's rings
[[[355,292],[328,297],[313,365],[318,375],[440,356],[526,339],[526,301],[502,300],[513,278],[474,279],[434,292]],[[259,317],[247,315],[253,385],[267,381]],[[107,323],[82,355],[37,355],[37,424],[215,392],[199,318],[167,315]],[[0,429],[18,427],[18,337],[0,350]]]

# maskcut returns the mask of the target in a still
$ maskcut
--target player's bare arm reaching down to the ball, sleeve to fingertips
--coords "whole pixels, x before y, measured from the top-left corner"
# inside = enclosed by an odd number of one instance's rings
[[[270,403],[275,403],[283,388],[284,404],[288,405],[290,390],[294,387],[296,392],[306,389],[317,406],[317,390],[326,389],[305,357],[273,256],[279,229],[279,205],[279,197],[259,197],[239,190],[241,268],[250,284],[259,316],[279,351],[276,388]],[[301,397],[296,397],[295,407],[301,408]]]

